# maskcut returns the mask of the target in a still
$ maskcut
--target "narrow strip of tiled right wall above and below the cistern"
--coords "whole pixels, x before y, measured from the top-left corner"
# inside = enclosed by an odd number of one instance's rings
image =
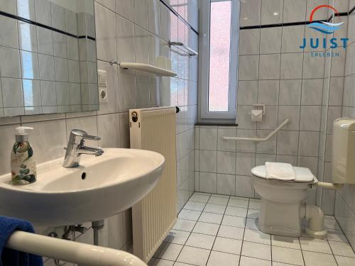
[[[354,6],[355,1],[351,0],[349,8]],[[342,116],[355,119],[355,13],[349,16],[348,38],[351,44],[346,50]],[[335,217],[355,248],[355,185],[345,185],[335,195]]]

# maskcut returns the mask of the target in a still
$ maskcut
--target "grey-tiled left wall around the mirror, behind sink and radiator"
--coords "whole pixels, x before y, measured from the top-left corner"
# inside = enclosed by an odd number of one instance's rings
[[[1,2],[1,1],[0,1]],[[172,5],[174,3],[171,3]],[[185,6],[185,8],[182,8]],[[197,28],[197,1],[179,1],[180,16]],[[64,156],[63,147],[72,128],[99,135],[99,143],[87,145],[102,148],[129,148],[129,109],[136,107],[179,105],[177,125],[179,206],[194,190],[193,147],[194,124],[197,119],[197,57],[183,56],[184,51],[171,52],[167,41],[181,40],[197,50],[197,34],[185,26],[159,0],[97,0],[94,3],[97,35],[97,65],[107,71],[108,103],[100,103],[99,111],[60,113],[37,116],[0,118],[0,174],[10,171],[9,158],[16,126],[33,126],[30,133],[36,162]],[[121,70],[110,61],[149,62],[164,55],[172,58],[178,77],[161,79],[153,75]],[[160,97],[161,94],[161,97]],[[85,226],[90,227],[90,223]],[[53,228],[38,228],[49,233]],[[62,228],[55,228],[62,235]],[[92,243],[92,230],[76,238]],[[131,211],[123,211],[106,220],[104,244],[117,249],[131,248]],[[46,265],[51,265],[48,260]]]

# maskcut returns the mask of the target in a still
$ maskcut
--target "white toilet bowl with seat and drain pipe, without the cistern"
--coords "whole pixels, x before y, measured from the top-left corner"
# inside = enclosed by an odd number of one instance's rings
[[[254,189],[261,196],[258,228],[264,233],[298,237],[302,235],[302,218],[307,218],[307,235],[325,238],[327,231],[323,228],[322,210],[317,206],[305,205],[307,189],[317,184],[317,178],[307,168],[293,168],[296,179],[291,182],[266,179],[265,165],[251,170]],[[310,228],[310,224],[315,226]]]

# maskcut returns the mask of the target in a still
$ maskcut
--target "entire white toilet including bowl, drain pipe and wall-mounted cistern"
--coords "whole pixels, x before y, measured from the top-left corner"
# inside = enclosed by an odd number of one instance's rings
[[[253,187],[261,196],[258,228],[264,233],[298,237],[302,235],[302,219],[307,220],[305,233],[324,239],[324,214],[320,207],[305,204],[308,189],[318,186],[340,189],[342,184],[355,184],[355,121],[334,121],[332,141],[332,183],[319,182],[305,167],[293,167],[295,180],[266,179],[265,165],[253,167]]]

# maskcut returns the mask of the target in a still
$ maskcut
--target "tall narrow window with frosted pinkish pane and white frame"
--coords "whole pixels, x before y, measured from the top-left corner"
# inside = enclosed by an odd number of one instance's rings
[[[202,2],[200,118],[236,118],[239,0]]]

